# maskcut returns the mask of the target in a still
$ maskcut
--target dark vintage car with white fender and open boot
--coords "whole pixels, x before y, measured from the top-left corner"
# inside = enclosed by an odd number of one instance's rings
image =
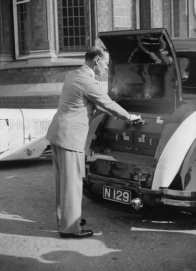
[[[99,38],[110,53],[109,95],[141,120],[129,125],[95,112],[85,148],[84,195],[137,210],[143,204],[195,209],[196,39],[171,41],[164,28]]]

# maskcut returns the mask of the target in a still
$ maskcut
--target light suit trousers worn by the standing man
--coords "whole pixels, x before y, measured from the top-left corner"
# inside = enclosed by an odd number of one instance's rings
[[[56,221],[61,233],[82,230],[81,205],[83,179],[82,152],[72,151],[51,143],[56,192]]]

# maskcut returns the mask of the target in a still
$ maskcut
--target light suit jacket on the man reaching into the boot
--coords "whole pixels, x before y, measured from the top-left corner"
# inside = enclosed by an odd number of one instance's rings
[[[88,124],[96,105],[121,119],[129,116],[125,109],[110,99],[90,68],[83,65],[66,78],[46,138],[63,148],[83,152]]]

